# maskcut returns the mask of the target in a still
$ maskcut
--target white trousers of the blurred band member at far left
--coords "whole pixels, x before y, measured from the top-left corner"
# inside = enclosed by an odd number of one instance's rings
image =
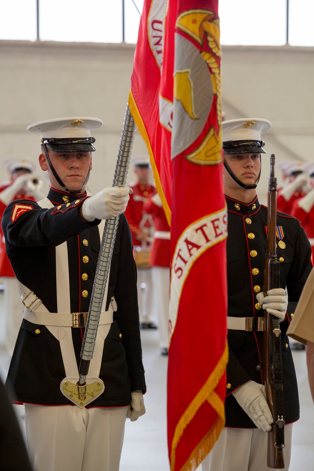
[[[3,276],[4,312],[6,316],[5,342],[8,354],[12,356],[24,314],[15,276]]]

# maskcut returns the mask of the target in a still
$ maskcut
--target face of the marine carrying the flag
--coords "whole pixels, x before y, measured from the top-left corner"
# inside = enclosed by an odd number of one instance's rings
[[[72,191],[78,191],[82,188],[89,170],[92,169],[92,158],[90,152],[55,152],[48,151],[49,159],[63,181],[64,185]],[[62,190],[53,176],[47,162],[45,154],[39,156],[40,168],[48,171],[48,176],[52,187]],[[84,188],[82,188],[82,192]]]

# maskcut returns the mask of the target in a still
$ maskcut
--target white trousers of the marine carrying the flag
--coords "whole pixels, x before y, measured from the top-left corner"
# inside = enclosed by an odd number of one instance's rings
[[[34,471],[119,471],[127,410],[25,404]]]

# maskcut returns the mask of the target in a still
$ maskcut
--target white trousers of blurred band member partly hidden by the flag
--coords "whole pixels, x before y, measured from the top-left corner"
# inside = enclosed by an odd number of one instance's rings
[[[170,268],[152,267],[153,307],[159,326],[159,346],[169,346],[169,288]]]

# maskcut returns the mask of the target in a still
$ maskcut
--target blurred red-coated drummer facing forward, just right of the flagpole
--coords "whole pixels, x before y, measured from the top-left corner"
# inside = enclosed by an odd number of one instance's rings
[[[125,216],[131,230],[135,252],[141,249],[145,252],[150,249],[153,221],[147,214],[143,215],[143,205],[149,195],[156,193],[156,188],[149,181],[152,170],[148,155],[137,155],[132,159],[132,163],[137,182],[129,184],[133,194],[130,195]],[[137,295],[141,328],[156,329],[152,317],[152,272],[148,261],[146,268],[141,268],[137,263]]]

